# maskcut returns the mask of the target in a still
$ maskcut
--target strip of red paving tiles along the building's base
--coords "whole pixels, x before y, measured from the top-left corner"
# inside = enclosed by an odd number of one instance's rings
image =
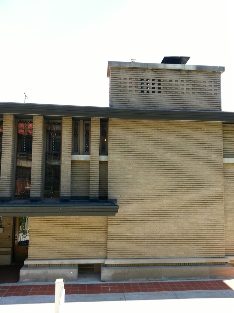
[[[222,280],[167,281],[146,283],[65,284],[66,295],[150,291],[233,290]],[[55,284],[0,286],[0,297],[54,295]]]

